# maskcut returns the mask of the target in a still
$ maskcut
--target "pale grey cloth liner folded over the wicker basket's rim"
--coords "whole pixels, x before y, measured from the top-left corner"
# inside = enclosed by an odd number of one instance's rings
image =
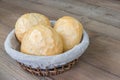
[[[55,21],[51,21],[51,23],[53,25]],[[8,34],[4,43],[4,47],[8,55],[11,56],[13,59],[17,60],[18,62],[21,62],[26,66],[31,66],[32,68],[40,67],[42,69],[51,69],[54,67],[64,65],[80,57],[89,45],[89,37],[86,31],[84,30],[82,41],[78,45],[75,45],[72,49],[62,54],[54,56],[34,56],[24,54],[19,51],[19,45],[20,44],[15,37],[13,29]]]

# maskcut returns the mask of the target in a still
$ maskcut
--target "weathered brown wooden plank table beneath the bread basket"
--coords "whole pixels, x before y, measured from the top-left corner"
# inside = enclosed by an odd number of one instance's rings
[[[24,71],[4,50],[4,41],[24,13],[39,12],[50,19],[69,15],[80,20],[90,46],[68,72],[55,80],[120,80],[119,0],[0,0],[0,80],[39,80]]]

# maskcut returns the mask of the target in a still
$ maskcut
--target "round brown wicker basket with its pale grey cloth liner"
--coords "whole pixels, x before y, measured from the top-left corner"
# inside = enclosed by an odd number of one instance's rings
[[[54,23],[55,21],[51,21],[52,25]],[[64,52],[64,54],[55,56],[33,56],[19,52],[17,48],[19,43],[15,37],[14,30],[8,34],[4,44],[8,55],[15,59],[24,70],[38,76],[57,75],[70,70],[72,66],[78,62],[79,57],[84,53],[88,45],[89,36],[85,30],[83,31],[83,39],[81,43],[73,47],[71,50]]]

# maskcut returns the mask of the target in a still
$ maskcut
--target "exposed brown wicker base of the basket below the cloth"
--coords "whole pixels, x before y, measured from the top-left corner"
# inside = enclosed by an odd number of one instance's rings
[[[38,76],[53,76],[53,75],[58,75],[61,74],[65,71],[70,70],[73,65],[75,65],[79,61],[78,59],[75,59],[65,65],[62,65],[61,67],[54,67],[53,69],[40,69],[40,68],[32,68],[31,66],[26,66],[20,62],[19,65],[26,71],[30,72],[33,75],[38,75]]]

